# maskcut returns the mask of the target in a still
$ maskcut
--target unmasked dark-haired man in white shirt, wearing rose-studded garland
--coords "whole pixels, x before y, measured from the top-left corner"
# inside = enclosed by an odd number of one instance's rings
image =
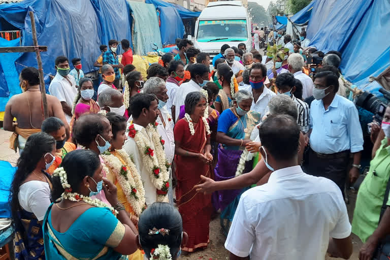
[[[150,131],[150,127],[153,126],[150,126],[149,124],[154,125],[159,116],[160,112],[157,107],[158,102],[154,94],[139,93],[132,98],[132,102],[130,104],[133,116],[133,125],[135,131],[137,131],[136,135],[142,135],[145,140],[146,147],[152,149],[152,152],[154,153],[156,149],[152,140],[152,133]],[[130,136],[130,133],[128,135]],[[123,145],[123,149],[133,158],[134,164],[136,165],[144,184],[146,204],[151,205],[157,201],[157,188],[153,185],[151,180],[151,178],[155,177],[151,176],[149,167],[143,159],[145,150],[139,148],[138,144],[134,141],[134,138],[128,138]],[[164,165],[158,167],[162,168],[166,166]],[[168,202],[168,196],[166,196],[166,200],[164,202]]]

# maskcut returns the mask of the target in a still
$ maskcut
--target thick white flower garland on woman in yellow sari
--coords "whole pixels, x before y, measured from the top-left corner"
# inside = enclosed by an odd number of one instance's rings
[[[139,217],[145,207],[145,190],[141,176],[133,161],[123,149],[115,150],[101,156],[105,164],[115,174],[126,196],[127,202]],[[124,165],[119,158],[124,161]]]

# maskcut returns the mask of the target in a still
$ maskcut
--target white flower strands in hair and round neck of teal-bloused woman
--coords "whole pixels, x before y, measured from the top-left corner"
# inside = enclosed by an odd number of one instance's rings
[[[60,183],[62,185],[62,188],[64,191],[61,194],[61,198],[65,200],[70,201],[83,201],[89,205],[98,207],[98,208],[109,208],[115,216],[118,214],[118,211],[116,211],[113,207],[108,206],[106,203],[102,202],[98,199],[91,199],[89,196],[83,196],[77,192],[72,192],[72,187],[68,183],[68,176],[67,173],[63,170],[62,167],[55,169],[53,176],[58,176]]]

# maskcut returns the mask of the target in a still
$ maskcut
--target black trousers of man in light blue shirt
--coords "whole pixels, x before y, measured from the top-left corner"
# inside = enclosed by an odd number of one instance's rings
[[[303,171],[307,174],[325,177],[334,181],[344,197],[345,180],[349,164],[349,151],[338,154],[337,158],[320,158],[311,148],[305,155]]]

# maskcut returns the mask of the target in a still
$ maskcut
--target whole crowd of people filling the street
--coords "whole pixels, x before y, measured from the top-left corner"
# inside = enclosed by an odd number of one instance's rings
[[[311,78],[302,46],[281,41],[289,51],[274,60],[245,44],[211,59],[183,39],[144,79],[129,42],[119,62],[110,40],[94,64],[97,89],[80,58],[71,71],[59,56],[48,118],[38,70],[23,69],[23,93],[4,117],[20,154],[10,195],[16,259],[177,259],[208,247],[216,213],[232,260],[347,259],[351,230],[369,259],[390,222],[386,210],[377,228],[390,109],[372,127],[372,170],[351,226],[345,184],[360,175],[363,132],[340,91],[341,54],[327,53]]]

